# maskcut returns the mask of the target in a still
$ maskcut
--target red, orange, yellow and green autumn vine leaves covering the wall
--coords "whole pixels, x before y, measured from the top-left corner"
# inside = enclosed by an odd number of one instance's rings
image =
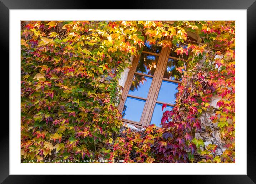
[[[198,36],[187,42],[188,33]],[[162,128],[133,131],[117,109],[118,79],[145,41],[175,49],[182,75]],[[210,106],[213,96],[221,99]],[[164,107],[163,107],[164,108]],[[226,150],[195,138],[213,112]],[[207,129],[207,127],[204,127]],[[195,157],[198,159],[195,160]],[[234,21],[21,22],[21,160],[121,159],[125,163],[235,162]]]

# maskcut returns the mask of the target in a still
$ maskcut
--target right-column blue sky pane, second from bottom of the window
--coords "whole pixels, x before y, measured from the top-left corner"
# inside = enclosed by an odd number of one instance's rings
[[[177,87],[177,83],[162,81],[157,101],[174,104],[175,94],[178,92]]]

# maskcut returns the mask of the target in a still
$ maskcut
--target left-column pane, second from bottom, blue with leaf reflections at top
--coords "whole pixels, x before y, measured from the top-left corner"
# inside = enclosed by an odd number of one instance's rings
[[[150,77],[134,75],[132,85],[128,94],[137,97],[147,98],[151,82],[152,78]]]

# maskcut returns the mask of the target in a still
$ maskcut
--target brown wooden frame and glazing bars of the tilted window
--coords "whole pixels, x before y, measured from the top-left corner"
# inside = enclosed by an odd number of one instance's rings
[[[138,66],[138,63],[139,63],[139,58],[141,57],[141,54],[138,55],[137,57],[133,58],[132,66],[130,68],[130,71],[129,71],[128,76],[127,76],[127,80],[126,80],[125,85],[124,85],[124,89],[122,91],[122,99],[119,103],[118,110],[119,110],[120,113],[122,113],[127,97],[142,99],[146,102],[145,102],[145,105],[144,105],[144,108],[143,108],[143,111],[142,111],[142,115],[141,115],[141,119],[140,119],[139,122],[123,118],[122,119],[123,123],[147,127],[147,126],[149,126],[149,124],[151,122],[153,112],[154,112],[154,107],[156,106],[156,103],[166,104],[167,106],[174,107],[174,104],[168,104],[168,103],[165,103],[165,102],[157,101],[157,97],[158,97],[158,94],[159,94],[159,91],[160,91],[162,81],[181,83],[180,81],[171,80],[171,79],[163,77],[164,72],[166,70],[168,60],[169,59],[180,60],[180,58],[170,56],[170,53],[171,53],[171,48],[169,48],[169,47],[162,48],[160,53],[142,51],[142,54],[153,55],[153,56],[158,56],[159,57],[157,65],[156,65],[156,71],[154,72],[154,75],[147,75],[147,74],[144,74],[144,73],[136,72],[136,69],[137,69],[137,66]],[[184,61],[187,62],[187,60],[184,60]],[[131,84],[132,84],[132,81],[133,81],[133,76],[134,75],[139,75],[139,76],[144,76],[144,77],[146,76],[146,77],[152,78],[152,82],[151,82],[151,86],[150,86],[149,91],[148,91],[147,98],[142,98],[142,97],[133,96],[131,94],[128,94],[128,92],[130,90],[130,87],[131,87]]]

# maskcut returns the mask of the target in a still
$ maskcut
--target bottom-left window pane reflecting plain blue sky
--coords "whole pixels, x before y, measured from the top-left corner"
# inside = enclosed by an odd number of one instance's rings
[[[146,101],[141,99],[127,97],[123,108],[122,117],[139,122],[145,102]]]

